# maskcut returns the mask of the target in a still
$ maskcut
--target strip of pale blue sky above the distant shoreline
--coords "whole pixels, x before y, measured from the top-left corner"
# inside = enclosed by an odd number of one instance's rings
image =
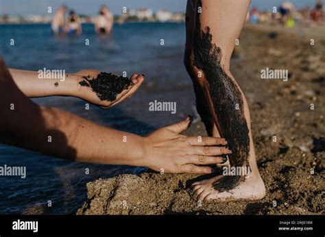
[[[250,6],[255,6],[259,10],[271,10],[272,7],[278,6],[282,1],[284,0],[252,0]],[[315,4],[315,0],[291,0],[291,2],[297,8]],[[160,9],[171,12],[184,12],[186,7],[186,0],[0,0],[0,15],[46,15],[49,6],[51,6],[52,10],[56,10],[63,3],[78,14],[86,14],[88,16],[95,16],[102,4],[108,5],[114,14],[121,14],[124,6],[128,10],[151,8],[154,12]]]

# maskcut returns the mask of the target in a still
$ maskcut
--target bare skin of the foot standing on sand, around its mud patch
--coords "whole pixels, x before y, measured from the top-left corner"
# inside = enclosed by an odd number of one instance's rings
[[[213,184],[219,182],[218,180],[230,176],[217,176],[208,180],[193,183],[193,190],[197,195],[198,201],[208,201],[217,199],[218,201],[231,201],[231,200],[258,200],[265,197],[265,186],[261,176],[258,177],[246,176],[243,182],[229,191],[217,191]]]

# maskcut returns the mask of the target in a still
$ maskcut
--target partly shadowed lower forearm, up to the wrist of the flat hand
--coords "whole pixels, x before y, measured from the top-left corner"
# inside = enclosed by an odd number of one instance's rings
[[[73,161],[145,166],[143,137],[34,103],[15,110],[1,124],[0,139],[5,143]]]

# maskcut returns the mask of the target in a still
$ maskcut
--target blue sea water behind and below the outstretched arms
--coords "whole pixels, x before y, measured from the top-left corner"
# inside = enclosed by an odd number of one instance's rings
[[[160,45],[161,39],[164,45]],[[182,64],[184,43],[184,23],[116,24],[110,36],[97,36],[93,25],[83,25],[82,35],[60,37],[53,35],[49,25],[0,25],[0,55],[10,68],[64,69],[67,73],[92,68],[115,74],[126,71],[128,76],[145,74],[145,83],[130,100],[108,110],[91,105],[86,111],[86,102],[78,98],[34,99],[38,104],[138,135],[195,113],[191,79]],[[154,100],[176,102],[176,113],[149,111],[149,102]],[[64,161],[0,144],[3,165],[25,166],[27,177],[0,176],[0,214],[75,214],[86,199],[87,182],[146,170]]]

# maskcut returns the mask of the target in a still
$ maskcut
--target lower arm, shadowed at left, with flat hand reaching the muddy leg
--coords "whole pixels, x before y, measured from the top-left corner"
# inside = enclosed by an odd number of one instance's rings
[[[210,173],[230,151],[220,138],[180,135],[184,120],[147,137],[99,126],[60,109],[42,107],[16,86],[0,58],[0,141],[73,161],[145,166],[166,173]]]

